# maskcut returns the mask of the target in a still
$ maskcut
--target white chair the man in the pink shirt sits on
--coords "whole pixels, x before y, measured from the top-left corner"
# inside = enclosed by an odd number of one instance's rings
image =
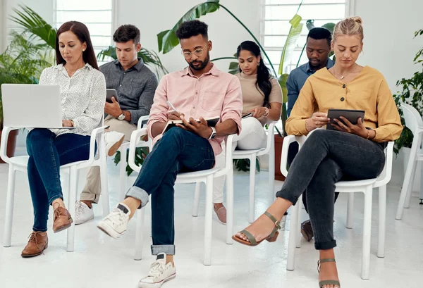
[[[140,137],[147,135],[147,129],[142,128],[134,131],[130,138],[129,147],[129,165],[133,170],[140,172],[140,166],[135,165],[135,148],[140,142]],[[204,182],[206,184],[206,206],[204,217],[204,265],[211,265],[212,262],[212,194],[213,194],[213,178],[222,175],[228,175],[226,181],[226,244],[233,244],[233,165],[232,165],[232,141],[234,135],[229,135],[226,140],[226,166],[225,168],[212,168],[208,170],[179,173],[176,183],[197,183]],[[200,201],[200,193],[195,193],[193,215],[197,213],[198,202]],[[142,258],[142,228],[144,225],[145,208],[137,212],[137,232],[135,236],[135,260]],[[195,215],[194,215],[195,216]]]

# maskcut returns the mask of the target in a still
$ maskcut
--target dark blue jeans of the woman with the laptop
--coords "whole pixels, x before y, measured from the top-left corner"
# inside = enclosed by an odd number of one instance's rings
[[[90,156],[90,136],[56,134],[48,129],[31,130],[26,139],[30,156],[27,165],[34,227],[32,230],[47,231],[49,206],[58,198],[63,199],[60,171],[61,165],[87,160]]]

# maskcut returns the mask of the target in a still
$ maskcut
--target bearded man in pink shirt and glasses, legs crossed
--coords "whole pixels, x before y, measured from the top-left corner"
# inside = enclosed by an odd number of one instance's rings
[[[135,184],[104,220],[97,225],[109,236],[118,238],[137,208],[144,207],[152,196],[152,254],[157,260],[139,287],[161,287],[176,276],[173,265],[175,231],[173,185],[183,171],[198,171],[214,166],[221,142],[241,130],[243,98],[237,77],[223,73],[211,62],[212,42],[207,25],[192,20],[180,25],[176,35],[189,67],[165,75],[152,106],[148,134],[154,148],[145,159]],[[174,108],[168,105],[168,101]],[[216,127],[207,126],[204,118],[219,117]],[[161,134],[168,120],[183,120]],[[197,123],[194,119],[200,119]]]

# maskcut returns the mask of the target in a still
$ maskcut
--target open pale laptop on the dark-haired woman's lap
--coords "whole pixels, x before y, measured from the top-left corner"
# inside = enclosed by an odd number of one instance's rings
[[[59,128],[62,126],[59,85],[1,84],[4,126]]]

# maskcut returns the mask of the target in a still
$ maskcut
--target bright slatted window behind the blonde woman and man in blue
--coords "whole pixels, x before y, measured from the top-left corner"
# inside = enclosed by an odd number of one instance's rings
[[[262,0],[262,20],[260,41],[269,55],[276,72],[279,69],[283,45],[290,30],[289,21],[297,13],[301,0]],[[290,73],[295,69],[300,58],[302,47],[307,39],[308,29],[305,23],[314,19],[314,26],[321,27],[325,23],[337,23],[345,18],[348,0],[304,0],[298,11],[304,24],[297,40],[292,58],[284,63],[283,73]],[[300,65],[307,63],[307,54],[304,52]]]

